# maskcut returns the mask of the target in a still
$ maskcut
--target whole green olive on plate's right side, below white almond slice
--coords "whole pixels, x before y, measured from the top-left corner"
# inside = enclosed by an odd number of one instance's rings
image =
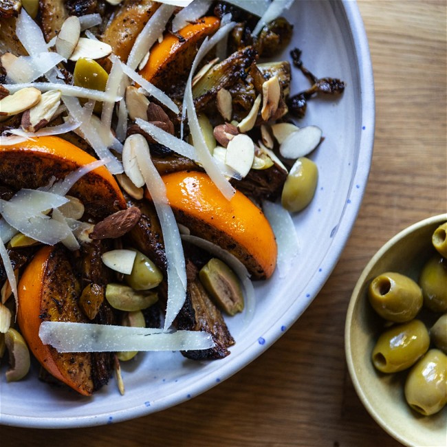
[[[286,210],[303,210],[312,201],[318,182],[318,168],[306,157],[296,160],[283,186],[281,204]]]

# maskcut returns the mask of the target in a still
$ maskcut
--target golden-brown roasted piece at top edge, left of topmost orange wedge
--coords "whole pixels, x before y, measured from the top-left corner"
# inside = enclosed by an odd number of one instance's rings
[[[108,23],[104,34],[100,36],[100,41],[111,45],[113,54],[126,62],[135,39],[159,6],[160,3],[156,1],[124,0]],[[109,71],[109,59],[105,59],[103,64]]]

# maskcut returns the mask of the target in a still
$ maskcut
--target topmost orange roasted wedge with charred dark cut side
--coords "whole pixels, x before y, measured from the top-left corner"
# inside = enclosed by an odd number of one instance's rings
[[[177,34],[165,33],[161,43],[151,48],[149,60],[140,74],[160,89],[171,92],[184,84],[191,64],[197,53],[197,46],[206,36],[219,28],[217,17],[203,17],[190,23]]]

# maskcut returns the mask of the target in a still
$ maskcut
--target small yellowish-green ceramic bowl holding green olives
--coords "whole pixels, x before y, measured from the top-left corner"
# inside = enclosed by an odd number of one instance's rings
[[[433,231],[445,221],[447,214],[430,217],[385,243],[363,270],[347,312],[345,351],[353,385],[373,419],[405,446],[446,447],[447,406],[432,416],[419,415],[408,406],[404,397],[408,371],[383,374],[373,367],[371,352],[384,322],[369,304],[367,288],[375,276],[386,271],[406,274],[417,281],[422,265],[435,250],[431,249]],[[430,318],[435,320],[436,316],[424,314],[424,318],[430,326],[434,322]]]

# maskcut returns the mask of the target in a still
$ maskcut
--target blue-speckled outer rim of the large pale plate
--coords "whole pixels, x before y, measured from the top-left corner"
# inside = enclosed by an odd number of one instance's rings
[[[339,6],[342,8],[338,8]],[[358,10],[355,0],[331,1],[333,8],[338,8],[338,14],[345,14],[345,22],[349,25],[352,47],[355,52],[355,58],[358,65],[358,78],[360,84],[360,123],[362,131],[360,132],[358,160],[355,160],[356,166],[353,166],[353,178],[349,186],[349,194],[345,208],[342,211],[340,221],[331,233],[331,248],[325,255],[325,259],[319,265],[318,271],[312,276],[307,284],[304,293],[306,300],[296,300],[290,309],[281,317],[281,320],[272,322],[272,326],[259,334],[243,356],[237,356],[232,362],[223,364],[218,371],[214,371],[202,380],[188,382],[184,390],[169,395],[168,398],[160,402],[151,402],[142,399],[139,406],[125,408],[119,411],[108,411],[98,415],[88,415],[85,417],[63,417],[61,419],[51,419],[46,417],[20,417],[18,415],[1,415],[1,424],[12,426],[25,426],[29,428],[76,428],[85,426],[99,426],[116,422],[123,422],[135,417],[142,417],[156,411],[162,411],[166,408],[182,403],[193,398],[204,391],[219,384],[223,380],[230,378],[252,362],[261,353],[273,345],[273,343],[282,336],[288,328],[303,314],[307,306],[316,297],[321,287],[329,278],[334,270],[338,259],[342,253],[351,230],[356,221],[360,203],[367,185],[369,168],[371,166],[371,157],[373,152],[373,138],[375,126],[375,100],[373,72],[371,67],[371,58],[369,55],[369,46],[367,36],[363,28],[362,17]],[[352,205],[351,205],[352,202]],[[26,419],[26,420],[25,420]]]

